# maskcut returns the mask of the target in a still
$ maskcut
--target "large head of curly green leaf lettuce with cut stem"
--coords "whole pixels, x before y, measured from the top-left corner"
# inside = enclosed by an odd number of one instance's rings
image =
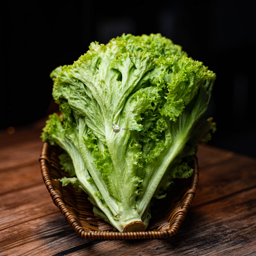
[[[123,34],[51,77],[62,115],[42,139],[66,152],[61,182],[118,231],[145,230],[151,199],[193,173],[197,144],[215,129],[204,118],[215,74],[160,34]]]

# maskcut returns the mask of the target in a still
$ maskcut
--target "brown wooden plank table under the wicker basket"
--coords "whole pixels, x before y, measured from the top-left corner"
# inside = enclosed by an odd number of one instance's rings
[[[180,230],[168,239],[86,240],[53,204],[38,158],[44,120],[0,131],[0,256],[256,255],[256,159],[200,146],[200,178]]]

